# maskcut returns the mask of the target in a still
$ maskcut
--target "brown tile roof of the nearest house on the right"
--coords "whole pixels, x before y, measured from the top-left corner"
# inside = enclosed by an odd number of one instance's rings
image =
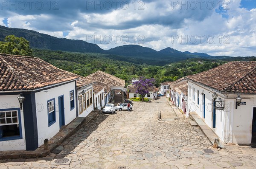
[[[224,93],[256,94],[256,62],[228,62],[186,78]]]

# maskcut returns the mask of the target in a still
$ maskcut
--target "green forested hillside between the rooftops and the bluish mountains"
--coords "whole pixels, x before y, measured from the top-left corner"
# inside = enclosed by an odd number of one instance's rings
[[[165,66],[134,64],[116,61],[107,54],[75,53],[33,49],[33,56],[44,59],[58,68],[87,76],[97,70],[105,71],[129,82],[132,78],[145,76],[156,79],[156,86],[161,82],[174,81],[181,77],[199,73],[225,63],[221,60],[186,59],[182,62]],[[125,59],[124,59],[125,60]]]

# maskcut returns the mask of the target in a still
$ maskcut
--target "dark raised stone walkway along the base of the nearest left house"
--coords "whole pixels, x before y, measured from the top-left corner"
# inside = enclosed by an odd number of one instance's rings
[[[93,115],[95,113],[95,115]],[[2,151],[0,152],[0,160],[4,159],[17,159],[17,158],[41,158],[50,154],[54,149],[61,145],[67,138],[75,134],[76,131],[84,127],[89,123],[96,115],[99,114],[99,111],[93,111],[86,118],[77,117],[70,124],[68,124],[63,130],[58,132],[51,140],[49,140],[49,149],[44,150],[44,145],[38,147],[35,151],[26,151],[26,150],[16,150],[16,151]],[[68,130],[72,128],[72,130]],[[62,135],[62,132],[68,132],[67,134]],[[50,141],[52,143],[50,143]]]

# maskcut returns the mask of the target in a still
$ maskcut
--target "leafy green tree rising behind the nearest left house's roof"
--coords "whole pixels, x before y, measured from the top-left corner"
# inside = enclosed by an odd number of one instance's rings
[[[29,41],[23,37],[9,35],[4,38],[3,42],[0,42],[0,53],[31,56],[32,50],[29,47]]]

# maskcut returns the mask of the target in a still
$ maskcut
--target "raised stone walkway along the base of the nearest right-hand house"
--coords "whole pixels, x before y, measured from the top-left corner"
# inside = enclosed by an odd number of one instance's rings
[[[214,131],[212,131],[212,129],[210,129],[205,123],[204,121],[198,116],[198,114],[191,112],[189,113],[189,115],[193,118],[193,120],[195,121],[196,124],[198,124],[198,126],[201,128],[202,132],[204,132],[204,135],[206,135],[206,137],[208,138],[208,140],[212,143],[212,145],[214,144],[214,139],[218,138],[218,135],[215,134]],[[221,142],[221,140],[219,140],[219,144],[218,147],[221,148],[225,148],[224,144]]]

